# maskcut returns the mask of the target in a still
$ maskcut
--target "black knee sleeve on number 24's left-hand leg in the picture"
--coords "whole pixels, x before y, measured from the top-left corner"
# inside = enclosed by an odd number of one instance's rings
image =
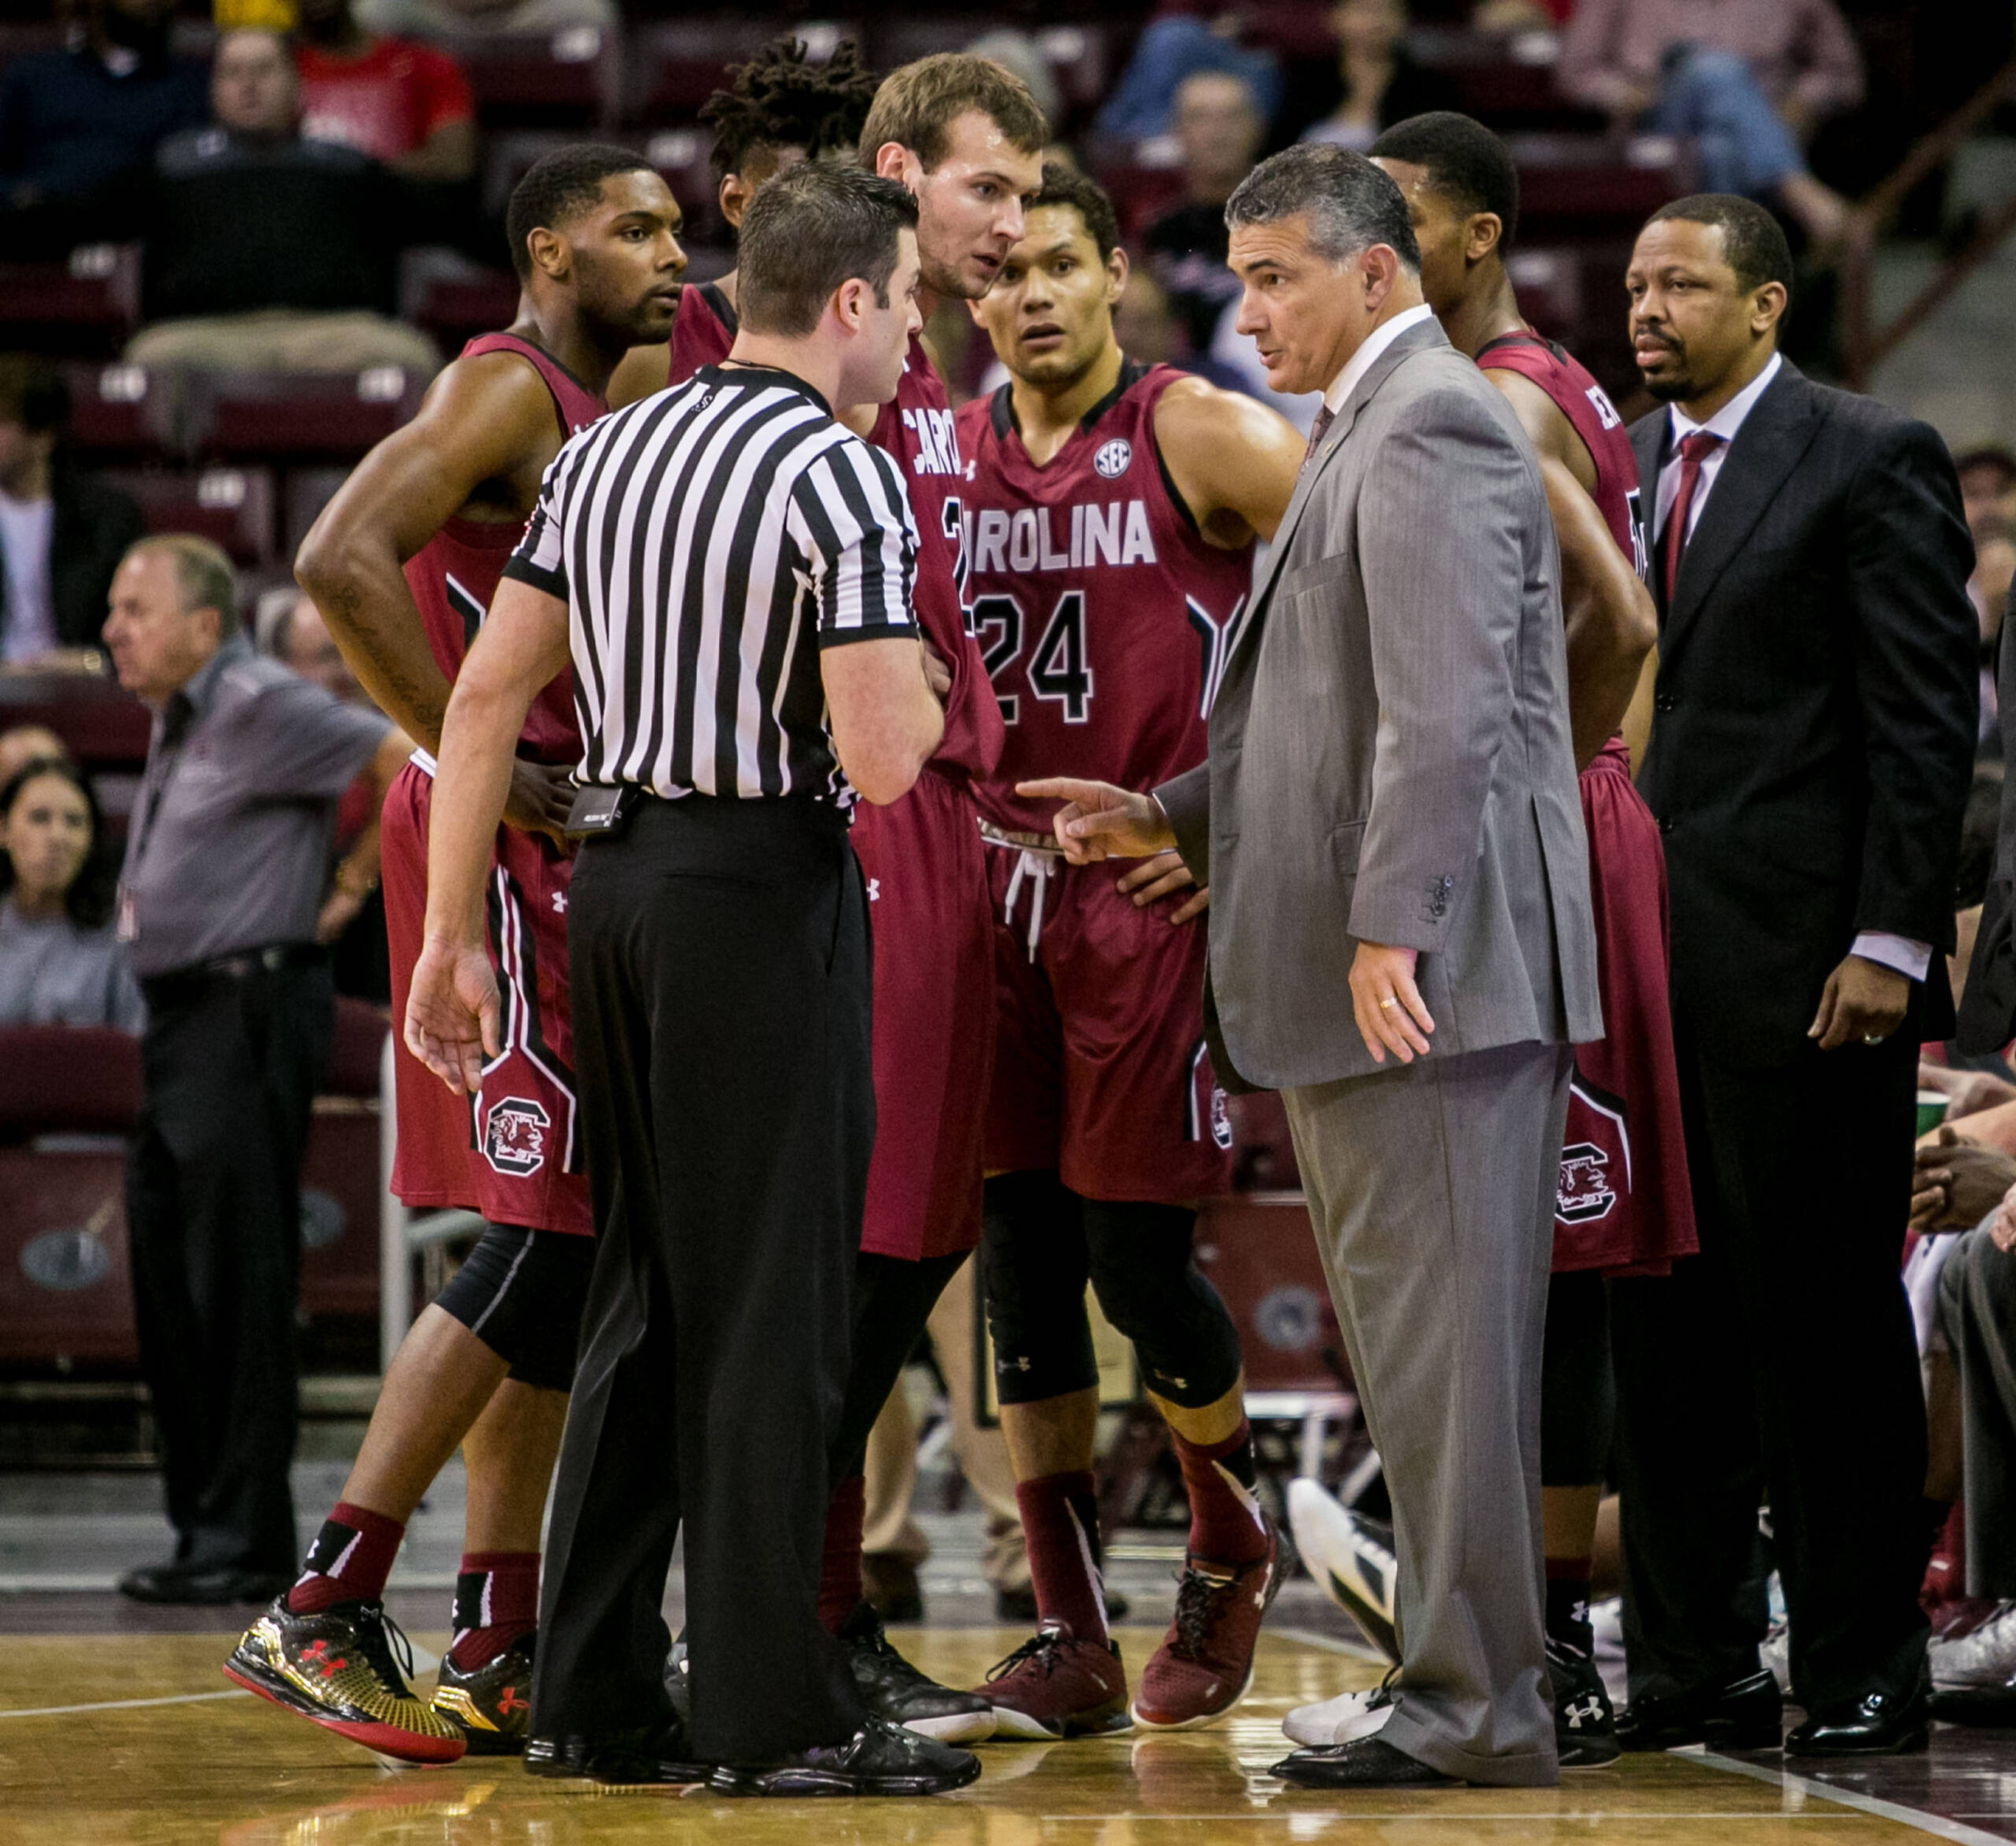
[[[1085,1312],[1085,1201],[1054,1173],[988,1181],[980,1280],[994,1334],[994,1391],[1032,1405],[1099,1382]]]

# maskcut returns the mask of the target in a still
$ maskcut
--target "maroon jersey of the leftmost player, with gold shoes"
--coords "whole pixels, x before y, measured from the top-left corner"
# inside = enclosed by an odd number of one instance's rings
[[[609,409],[564,365],[514,333],[486,333],[462,349],[464,359],[482,353],[516,353],[530,363],[552,393],[562,439],[587,429]],[[450,679],[460,671],[462,655],[476,639],[496,595],[498,576],[520,538],[524,526],[514,520],[452,518],[407,558],[405,582],[427,631],[427,647]],[[560,677],[532,699],[520,742],[540,762],[575,762],[581,756],[571,669],[562,669]]]

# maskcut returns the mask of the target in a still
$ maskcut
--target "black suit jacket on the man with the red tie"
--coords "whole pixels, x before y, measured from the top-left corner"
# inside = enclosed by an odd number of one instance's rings
[[[1631,429],[1649,500],[1669,431],[1663,409]],[[1800,1056],[1863,929],[1954,945],[1980,703],[1972,568],[1937,433],[1780,367],[1659,609],[1639,776],[1665,840],[1675,1020],[1710,1054]],[[1903,1030],[1943,1038],[1951,1022],[1933,953]]]

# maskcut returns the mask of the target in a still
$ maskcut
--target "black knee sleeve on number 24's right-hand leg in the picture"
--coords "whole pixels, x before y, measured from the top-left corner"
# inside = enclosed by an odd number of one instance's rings
[[[1183,1409],[1218,1403],[1240,1380],[1240,1330],[1198,1272],[1185,1205],[1085,1201],[1093,1290],[1141,1364],[1141,1382]]]

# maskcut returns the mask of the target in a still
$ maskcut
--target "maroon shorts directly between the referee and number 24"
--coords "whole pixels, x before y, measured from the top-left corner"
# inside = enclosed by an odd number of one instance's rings
[[[980,1241],[982,1098],[994,1064],[994,941],[980,816],[925,770],[855,808],[875,939],[875,1157],[869,1256],[921,1262]]]

